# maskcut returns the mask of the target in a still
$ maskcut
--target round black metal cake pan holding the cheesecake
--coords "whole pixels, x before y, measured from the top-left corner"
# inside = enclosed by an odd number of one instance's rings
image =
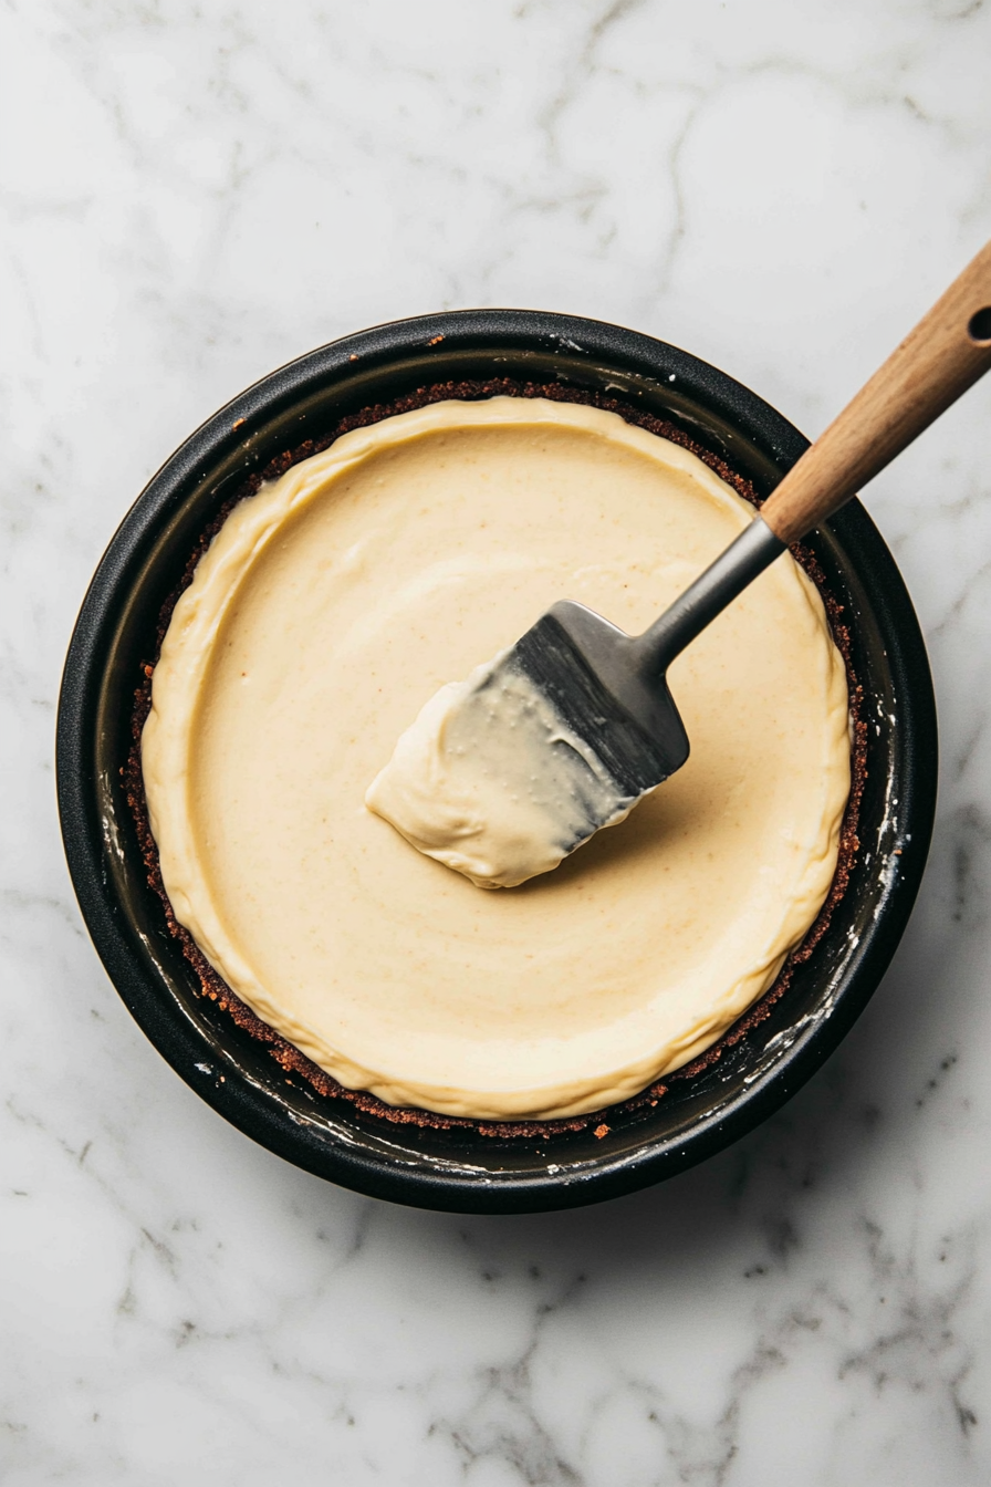
[[[456,311],[348,336],[236,397],[143,491],[83,601],[58,714],[58,800],[76,894],[110,978],[162,1056],[287,1161],[361,1193],[456,1212],[600,1201],[660,1182],[765,1120],[832,1053],[881,980],[923,876],[936,800],[936,712],[918,620],[888,549],[851,501],[810,546],[842,605],[862,687],[860,849],[826,934],[784,995],[707,1069],[673,1081],[655,1105],[611,1112],[600,1135],[496,1138],[397,1124],[287,1074],[204,996],[149,886],[122,776],[160,608],[224,501],[284,451],[423,387],[507,378],[606,396],[661,418],[759,497],[807,448],[732,378],[599,321]]]

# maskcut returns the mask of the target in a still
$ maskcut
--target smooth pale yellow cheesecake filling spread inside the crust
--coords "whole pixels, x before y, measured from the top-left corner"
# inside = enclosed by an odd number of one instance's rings
[[[842,659],[789,556],[670,669],[688,764],[556,871],[480,892],[364,796],[556,599],[640,632],[752,515],[614,413],[507,397],[345,434],[235,507],[143,772],[172,909],[238,996],[351,1088],[495,1120],[597,1109],[715,1042],[813,923],[850,788]]]

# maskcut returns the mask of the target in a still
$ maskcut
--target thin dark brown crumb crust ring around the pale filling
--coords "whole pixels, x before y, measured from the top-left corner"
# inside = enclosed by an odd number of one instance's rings
[[[863,708],[863,690],[857,683],[851,663],[851,647],[850,647],[850,630],[847,625],[842,623],[842,605],[829,593],[826,587],[826,577],[816,562],[813,553],[804,547],[801,543],[795,543],[790,549],[792,556],[805,572],[813,578],[819,592],[822,595],[823,604],[826,607],[826,614],[829,619],[829,626],[836,642],[839,653],[842,654],[847,668],[847,684],[850,688],[850,712],[853,718],[853,754],[851,754],[851,784],[850,784],[850,799],[847,801],[847,810],[844,813],[841,836],[839,836],[839,858],[836,862],[836,871],[834,876],[832,888],[829,897],[823,904],[819,917],[810,928],[808,934],[793,950],[780,975],[771,986],[768,992],[725,1033],[712,1048],[695,1059],[692,1063],[686,1065],[683,1069],[678,1069],[675,1074],[666,1075],[667,1083],[652,1084],[649,1088],[642,1090],[633,1099],[624,1100],[621,1105],[612,1105],[608,1109],[591,1111],[587,1115],[578,1115],[572,1120],[550,1120],[550,1121],[484,1121],[484,1120],[469,1120],[456,1115],[438,1115],[432,1111],[420,1109],[406,1109],[397,1108],[394,1105],[386,1105],[383,1100],[376,1099],[374,1094],[368,1094],[364,1090],[348,1090],[340,1086],[334,1078],[330,1077],[324,1069],[312,1063],[305,1054],[299,1051],[291,1042],[279,1036],[275,1029],[263,1023],[251,1008],[242,1002],[227,986],[227,983],[214,971],[208,964],[205,956],[201,953],[193,937],[184,929],[175,915],[172,913],[172,906],[165,892],[162,883],[162,871],[159,867],[159,854],[152,836],[152,828],[149,825],[149,812],[144,800],[144,782],[141,776],[141,729],[144,727],[144,720],[149,715],[152,706],[152,675],[155,672],[155,665],[157,662],[162,639],[168,629],[169,620],[172,617],[172,610],[178,601],[183,589],[189,587],[193,581],[193,572],[196,564],[207,552],[207,547],[217,535],[224,520],[230,515],[232,509],[248,495],[254,495],[259,486],[266,480],[275,480],[281,474],[294,465],[300,459],[308,459],[311,455],[319,454],[327,449],[336,439],[342,434],[349,433],[352,428],[364,428],[368,424],[377,424],[383,418],[392,418],[395,413],[407,413],[416,407],[425,407],[428,403],[441,403],[447,399],[458,399],[465,401],[475,401],[478,399],[510,396],[510,397],[545,397],[559,403],[585,403],[593,407],[602,407],[608,412],[618,413],[628,424],[634,424],[639,428],[648,430],[648,433],[658,434],[661,439],[670,439],[672,443],[682,445],[682,448],[689,449],[692,454],[698,455],[715,473],[731,485],[744,500],[750,501],[753,506],[759,506],[759,498],[756,491],[749,480],[738,476],[731,470],[725,461],[718,455],[713,455],[709,449],[697,445],[694,439],[685,434],[675,424],[669,424],[661,418],[654,418],[651,413],[645,413],[640,409],[630,407],[627,403],[621,403],[617,399],[605,397],[597,393],[585,393],[576,388],[563,387],[557,382],[550,384],[535,384],[535,382],[514,382],[510,378],[496,378],[487,382],[437,382],[432,387],[417,388],[416,393],[410,393],[406,397],[400,397],[392,403],[376,403],[373,407],[365,407],[360,413],[352,413],[343,418],[333,433],[322,439],[311,440],[308,439],[297,449],[287,449],[284,454],[276,455],[260,474],[250,476],[245,483],[221,506],[220,512],[214,520],[207,526],[201,535],[196,547],[190,553],[186,571],[177,589],[168,596],[162,605],[162,613],[159,616],[157,633],[155,639],[155,656],[150,662],[143,666],[141,684],[134,694],[134,714],[132,714],[132,745],[128,754],[128,761],[122,769],[125,791],[128,799],[128,806],[134,815],[134,822],[138,834],[138,845],[141,855],[144,858],[144,865],[147,870],[149,885],[157,894],[165,909],[165,919],[172,935],[178,940],[183,947],[183,955],[193,967],[201,987],[202,995],[208,996],[211,1001],[217,1002],[224,1011],[227,1011],[235,1023],[251,1033],[253,1038],[269,1045],[269,1051],[278,1060],[278,1063],[285,1069],[287,1074],[297,1074],[306,1080],[319,1094],[334,1099],[346,1100],[357,1109],[364,1111],[368,1115],[377,1115],[380,1120],[391,1121],[392,1124],[415,1124],[415,1126],[431,1126],[437,1130],[453,1130],[458,1127],[475,1130],[483,1136],[498,1136],[504,1139],[539,1139],[547,1141],[551,1136],[563,1135],[568,1132],[579,1132],[593,1127],[594,1136],[605,1136],[609,1132],[609,1120],[618,1120],[627,1112],[642,1108],[643,1105],[657,1105],[667,1088],[675,1081],[689,1080],[704,1069],[712,1068],[727,1048],[740,1042],[746,1033],[756,1028],[758,1023],[764,1022],[773,1005],[784,995],[787,990],[796,967],[810,958],[822,937],[829,928],[829,922],[836,909],[836,904],[847,891],[847,883],[850,882],[850,873],[859,851],[857,840],[857,818],[860,812],[860,797],[863,794],[863,784],[866,778],[866,723],[863,723],[860,714]]]

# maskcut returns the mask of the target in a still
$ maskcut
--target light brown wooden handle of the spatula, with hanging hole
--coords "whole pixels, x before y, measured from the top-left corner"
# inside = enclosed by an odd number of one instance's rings
[[[783,543],[866,485],[991,367],[991,242],[761,507]]]

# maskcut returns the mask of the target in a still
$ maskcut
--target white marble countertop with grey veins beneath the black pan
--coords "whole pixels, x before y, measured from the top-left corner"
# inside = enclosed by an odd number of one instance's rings
[[[991,6],[6,0],[0,58],[6,1487],[987,1483],[991,379],[868,492],[942,723],[902,950],[664,1187],[422,1213],[226,1126],[82,928],[52,733],[146,479],[343,332],[617,320],[817,433],[991,235]]]

